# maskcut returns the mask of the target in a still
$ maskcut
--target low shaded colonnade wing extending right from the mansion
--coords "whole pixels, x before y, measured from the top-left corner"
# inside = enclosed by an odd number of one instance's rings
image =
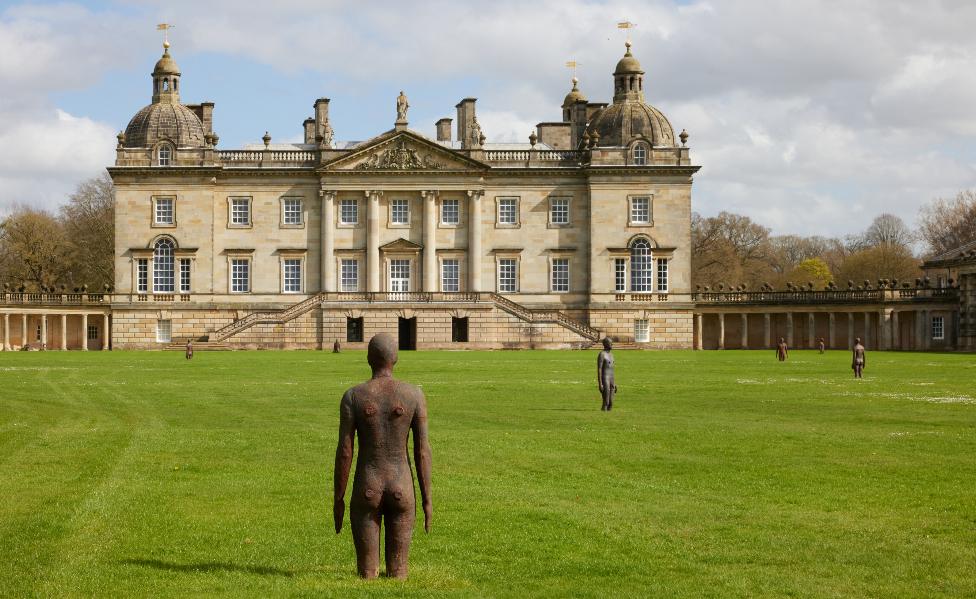
[[[824,338],[826,347],[837,347],[842,335],[846,332],[846,347],[853,347],[856,338],[855,331],[858,330],[861,343],[869,349],[912,349],[927,350],[932,349],[932,311],[928,308],[895,309],[878,308],[874,310],[843,310],[843,311],[822,311],[822,310],[795,310],[783,311],[775,310],[768,312],[750,311],[737,312],[730,306],[728,311],[705,311],[695,314],[695,348],[704,347],[705,316],[714,315],[717,317],[717,346],[718,349],[726,349],[727,345],[733,345],[739,349],[761,349],[775,347],[778,337],[783,337],[789,347],[815,348],[818,346],[820,337]],[[940,311],[940,314],[943,311]],[[805,326],[802,327],[802,338],[797,335],[798,326],[803,323],[805,315]],[[778,321],[776,324],[776,335],[774,338],[773,318]],[[909,318],[912,325],[903,326],[905,318]],[[951,323],[949,318],[943,316],[943,339],[940,339],[940,346],[951,346]],[[736,319],[739,321],[735,327]],[[753,341],[757,336],[756,320],[762,320],[762,342],[755,344]],[[826,320],[826,322],[824,322]],[[738,329],[738,339],[728,337],[728,323],[732,323],[732,328]],[[820,328],[818,329],[818,324]],[[846,324],[846,327],[844,326]],[[844,330],[846,328],[846,331]],[[818,334],[818,330],[820,334]],[[750,331],[753,335],[750,336]],[[733,333],[734,334],[734,333]],[[713,337],[714,339],[714,337]],[[738,341],[736,343],[736,341]]]

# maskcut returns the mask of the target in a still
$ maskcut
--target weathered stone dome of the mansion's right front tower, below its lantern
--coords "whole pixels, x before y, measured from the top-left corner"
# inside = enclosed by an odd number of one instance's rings
[[[635,61],[636,62],[636,61]],[[674,129],[667,117],[644,102],[614,103],[593,116],[586,132],[600,134],[601,146],[626,146],[643,136],[655,147],[674,147]]]

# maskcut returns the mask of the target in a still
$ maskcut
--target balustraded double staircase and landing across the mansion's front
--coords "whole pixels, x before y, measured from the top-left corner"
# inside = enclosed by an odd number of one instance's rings
[[[394,302],[411,302],[411,301],[421,301],[421,302],[431,302],[434,294],[417,294],[417,293],[404,293],[404,294],[392,294],[392,293],[376,293],[376,294],[364,294],[364,293],[350,293],[350,294],[336,294],[329,292],[321,292],[313,295],[312,297],[303,300],[294,306],[290,306],[285,310],[275,310],[273,312],[252,312],[240,320],[235,320],[234,322],[224,326],[216,331],[210,333],[207,337],[201,338],[199,344],[201,346],[207,346],[207,348],[227,348],[226,344],[222,343],[227,339],[233,337],[237,333],[251,328],[256,324],[284,324],[290,320],[294,320],[299,316],[305,314],[306,312],[312,310],[324,301],[338,300],[342,301],[343,295],[348,295],[349,301],[394,301]],[[403,297],[398,297],[402,295]],[[440,294],[445,296],[450,295],[460,295],[460,294]],[[603,337],[602,333],[589,325],[586,325],[578,320],[574,320],[569,316],[566,316],[558,310],[532,310],[526,308],[522,304],[513,302],[512,300],[498,295],[497,293],[465,293],[463,294],[464,301],[482,301],[484,298],[489,299],[495,304],[499,309],[508,312],[512,316],[515,316],[519,320],[528,323],[553,323],[562,326],[580,337],[590,341],[590,343],[596,343],[600,341]],[[372,298],[376,296],[376,300]],[[453,300],[455,298],[445,298]],[[177,345],[176,343],[173,344]],[[186,345],[186,341],[183,342]],[[194,349],[198,347],[198,342],[194,341]]]

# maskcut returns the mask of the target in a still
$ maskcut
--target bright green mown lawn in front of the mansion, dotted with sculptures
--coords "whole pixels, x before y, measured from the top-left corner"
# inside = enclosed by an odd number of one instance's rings
[[[366,583],[331,523],[362,352],[2,353],[0,595],[976,595],[976,357],[617,352],[610,413],[595,363],[401,354],[433,531]]]

